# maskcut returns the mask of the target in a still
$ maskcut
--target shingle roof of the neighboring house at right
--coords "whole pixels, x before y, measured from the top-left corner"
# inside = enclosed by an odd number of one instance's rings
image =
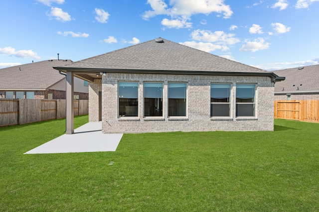
[[[275,84],[276,93],[314,93],[319,92],[319,65],[274,71],[285,81]]]

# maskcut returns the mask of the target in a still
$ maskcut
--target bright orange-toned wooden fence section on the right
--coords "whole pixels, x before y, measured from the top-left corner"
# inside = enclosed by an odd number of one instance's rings
[[[275,118],[319,122],[319,100],[275,101]]]

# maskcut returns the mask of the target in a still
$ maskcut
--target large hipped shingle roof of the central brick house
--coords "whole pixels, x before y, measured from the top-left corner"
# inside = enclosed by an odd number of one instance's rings
[[[271,72],[228,60],[166,39],[157,38],[137,45],[112,51],[55,67],[62,71],[106,71],[163,74],[237,74],[270,76]],[[213,72],[213,73],[212,73]],[[93,77],[93,75],[92,75]]]

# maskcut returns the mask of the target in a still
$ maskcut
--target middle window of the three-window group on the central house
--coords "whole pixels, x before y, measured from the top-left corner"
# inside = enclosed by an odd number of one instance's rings
[[[144,83],[144,116],[163,116],[162,98],[162,83]]]

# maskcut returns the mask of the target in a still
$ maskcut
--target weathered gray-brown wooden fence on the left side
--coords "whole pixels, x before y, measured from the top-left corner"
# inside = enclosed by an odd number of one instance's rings
[[[88,100],[74,100],[74,115],[88,113]],[[65,116],[65,100],[0,99],[0,126],[58,119]]]

